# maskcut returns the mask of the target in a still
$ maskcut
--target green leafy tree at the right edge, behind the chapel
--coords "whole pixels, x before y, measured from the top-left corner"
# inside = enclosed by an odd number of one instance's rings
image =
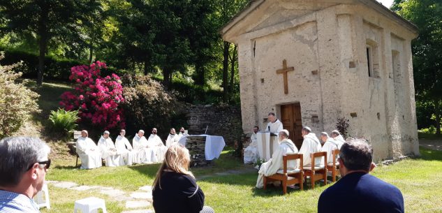
[[[417,101],[432,105],[436,133],[442,118],[442,3],[438,0],[396,0],[392,8],[419,28],[412,43]],[[432,117],[432,115],[426,115]]]

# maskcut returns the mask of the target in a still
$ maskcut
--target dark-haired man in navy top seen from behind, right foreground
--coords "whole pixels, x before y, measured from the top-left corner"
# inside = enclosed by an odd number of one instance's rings
[[[365,140],[344,143],[339,157],[342,178],[323,191],[318,213],[404,213],[401,191],[369,175],[375,164],[373,148]]]

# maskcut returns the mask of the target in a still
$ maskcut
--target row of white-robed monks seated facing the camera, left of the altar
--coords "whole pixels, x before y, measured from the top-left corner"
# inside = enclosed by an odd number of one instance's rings
[[[164,145],[163,140],[156,134],[156,128],[152,128],[152,134],[145,138],[145,131],[140,130],[135,134],[131,143],[124,135],[126,131],[121,129],[115,144],[110,138],[110,132],[104,131],[98,140],[98,145],[88,137],[86,130],[81,131],[81,137],[76,142],[76,152],[81,160],[82,169],[98,168],[105,166],[125,166],[133,163],[157,163],[164,160],[164,154],[168,147],[184,135],[182,127],[179,134],[175,133],[175,128],[170,129],[170,134]]]

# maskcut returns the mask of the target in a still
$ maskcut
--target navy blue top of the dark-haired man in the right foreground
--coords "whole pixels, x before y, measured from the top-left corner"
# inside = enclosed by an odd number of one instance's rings
[[[353,172],[325,189],[318,213],[404,213],[404,198],[396,186],[366,172]]]

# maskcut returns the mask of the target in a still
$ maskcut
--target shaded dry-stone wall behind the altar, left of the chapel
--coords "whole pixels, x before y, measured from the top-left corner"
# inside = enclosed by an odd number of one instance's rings
[[[227,145],[233,145],[242,137],[240,107],[214,105],[188,105],[186,110],[189,135],[223,136]]]

